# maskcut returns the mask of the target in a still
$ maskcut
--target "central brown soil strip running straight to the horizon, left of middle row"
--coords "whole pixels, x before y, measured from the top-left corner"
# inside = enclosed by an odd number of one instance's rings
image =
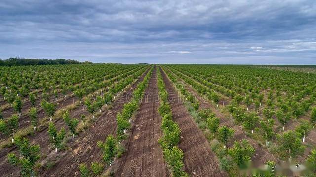
[[[140,110],[132,123],[127,151],[113,165],[116,177],[167,177],[168,172],[158,139],[162,136],[155,66]]]

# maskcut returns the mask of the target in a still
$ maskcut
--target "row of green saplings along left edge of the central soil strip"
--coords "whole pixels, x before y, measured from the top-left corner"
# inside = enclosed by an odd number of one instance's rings
[[[97,146],[101,148],[103,154],[103,162],[91,162],[90,168],[86,163],[79,164],[79,171],[81,177],[99,176],[106,166],[111,166],[114,159],[119,158],[124,153],[124,147],[121,142],[126,139],[126,130],[131,127],[130,119],[138,110],[141,98],[148,86],[152,69],[145,76],[144,80],[133,91],[133,98],[130,102],[125,103],[120,113],[116,115],[117,119],[117,136],[110,134],[107,136],[105,142],[98,141]],[[89,105],[85,103],[89,110]]]

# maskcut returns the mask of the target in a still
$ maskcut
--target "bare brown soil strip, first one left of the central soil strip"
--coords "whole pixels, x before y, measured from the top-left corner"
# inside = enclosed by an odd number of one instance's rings
[[[87,130],[86,134],[79,134],[76,143],[72,145],[70,150],[56,163],[55,166],[47,171],[41,171],[41,177],[75,177],[79,176],[78,166],[80,163],[101,161],[102,151],[97,147],[98,141],[105,141],[109,134],[116,131],[116,115],[122,110],[124,103],[132,98],[133,90],[143,81],[149,69],[131,86],[131,88],[123,93],[117,102],[113,103],[112,109],[105,111]]]

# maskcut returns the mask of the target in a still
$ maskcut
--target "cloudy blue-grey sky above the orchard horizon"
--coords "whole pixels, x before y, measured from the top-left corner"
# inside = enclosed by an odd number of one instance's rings
[[[1,0],[0,58],[316,64],[316,0]]]

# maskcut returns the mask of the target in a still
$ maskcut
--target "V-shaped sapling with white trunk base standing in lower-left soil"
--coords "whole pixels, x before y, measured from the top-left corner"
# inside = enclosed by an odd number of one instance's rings
[[[62,148],[62,141],[65,138],[65,129],[62,128],[59,132],[57,132],[55,124],[53,122],[49,122],[48,134],[50,142],[54,145],[55,152],[58,153],[58,148]]]

